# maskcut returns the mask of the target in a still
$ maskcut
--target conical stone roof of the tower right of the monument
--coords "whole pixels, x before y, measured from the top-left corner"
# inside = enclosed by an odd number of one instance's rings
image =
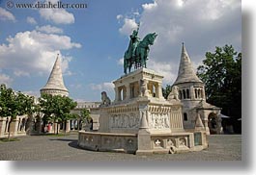
[[[179,67],[179,74],[174,85],[182,83],[198,82],[203,83],[195,74],[193,65],[189,59],[189,56],[185,50],[185,44],[183,43],[181,62]]]

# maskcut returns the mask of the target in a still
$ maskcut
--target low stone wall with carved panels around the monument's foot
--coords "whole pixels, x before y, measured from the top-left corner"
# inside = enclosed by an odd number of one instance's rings
[[[123,152],[136,155],[175,154],[201,151],[208,147],[205,132],[149,134],[114,134],[83,132],[78,146],[92,151]]]

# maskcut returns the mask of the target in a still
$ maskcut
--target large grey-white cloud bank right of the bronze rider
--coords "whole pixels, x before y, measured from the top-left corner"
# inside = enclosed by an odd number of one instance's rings
[[[195,65],[215,46],[232,44],[237,51],[242,49],[241,1],[155,0],[142,5],[142,9],[140,38],[153,32],[158,35],[150,47],[148,67],[163,74],[167,84],[177,77],[182,42]],[[133,23],[135,20],[125,22],[121,28],[123,34],[131,34],[131,27],[127,26]]]

